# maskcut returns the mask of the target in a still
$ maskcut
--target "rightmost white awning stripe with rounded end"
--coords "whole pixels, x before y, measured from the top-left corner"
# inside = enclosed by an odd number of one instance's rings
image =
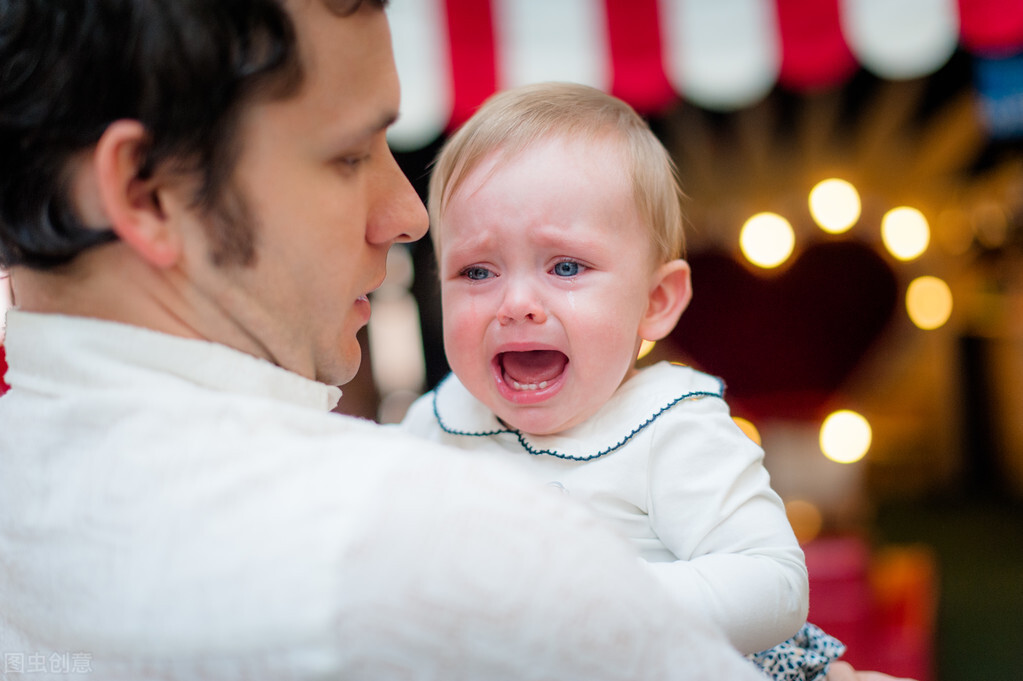
[[[844,0],[842,30],[863,67],[881,78],[920,78],[959,43],[955,0]]]

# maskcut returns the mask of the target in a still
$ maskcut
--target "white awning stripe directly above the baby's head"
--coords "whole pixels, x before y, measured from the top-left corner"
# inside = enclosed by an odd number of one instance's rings
[[[498,88],[571,81],[611,85],[607,17],[595,0],[493,0]]]

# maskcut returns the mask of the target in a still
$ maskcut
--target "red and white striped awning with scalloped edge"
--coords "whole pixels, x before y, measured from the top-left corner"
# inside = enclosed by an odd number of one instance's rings
[[[491,93],[585,83],[641,112],[676,97],[718,110],[775,84],[840,85],[862,66],[927,76],[958,46],[1023,49],[1023,0],[391,0],[402,116],[397,149],[422,146]]]

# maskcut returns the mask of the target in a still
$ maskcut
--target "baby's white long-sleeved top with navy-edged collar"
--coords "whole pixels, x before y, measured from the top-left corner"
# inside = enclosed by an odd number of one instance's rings
[[[763,451],[732,421],[723,392],[714,376],[660,363],[580,425],[538,437],[508,428],[451,375],[403,425],[585,501],[680,601],[757,652],[805,622],[806,565]]]

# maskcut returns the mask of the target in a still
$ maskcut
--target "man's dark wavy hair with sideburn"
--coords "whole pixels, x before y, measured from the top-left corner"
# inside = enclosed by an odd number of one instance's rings
[[[362,4],[325,1],[339,14]],[[226,185],[244,104],[301,82],[281,2],[0,0],[0,267],[53,268],[117,238],[82,224],[68,166],[122,119],[148,134],[140,177],[161,167],[195,174],[195,206],[221,214],[211,221],[215,260],[251,259],[251,237],[230,233],[249,226],[230,219],[240,197]]]

